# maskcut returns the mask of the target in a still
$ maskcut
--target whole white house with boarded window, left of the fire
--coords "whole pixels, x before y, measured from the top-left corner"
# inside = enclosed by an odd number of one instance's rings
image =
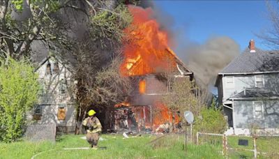
[[[33,109],[36,123],[56,123],[58,131],[75,130],[75,98],[69,86],[72,73],[61,61],[47,56],[35,70],[39,76],[40,93]]]

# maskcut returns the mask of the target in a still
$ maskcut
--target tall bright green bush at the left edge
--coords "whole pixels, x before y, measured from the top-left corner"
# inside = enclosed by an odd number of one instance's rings
[[[26,112],[36,102],[38,90],[38,75],[27,60],[10,59],[8,66],[0,66],[0,141],[22,136]]]

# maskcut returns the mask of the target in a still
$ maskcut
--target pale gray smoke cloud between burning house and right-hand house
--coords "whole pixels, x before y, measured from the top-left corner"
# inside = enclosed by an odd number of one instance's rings
[[[206,86],[213,86],[220,70],[239,55],[239,45],[232,38],[221,36],[209,38],[202,45],[191,45],[185,50],[183,61],[194,72],[198,82]]]

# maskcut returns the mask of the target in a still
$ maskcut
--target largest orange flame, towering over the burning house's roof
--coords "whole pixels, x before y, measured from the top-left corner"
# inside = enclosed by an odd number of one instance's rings
[[[176,55],[168,47],[167,32],[160,30],[158,22],[151,18],[151,8],[129,6],[129,10],[134,19],[125,30],[131,40],[123,48],[121,74],[145,75],[172,70]]]

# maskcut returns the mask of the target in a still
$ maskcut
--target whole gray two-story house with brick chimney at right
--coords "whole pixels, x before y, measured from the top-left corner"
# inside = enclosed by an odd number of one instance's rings
[[[255,48],[236,57],[216,80],[229,130],[235,135],[279,133],[279,54]]]

